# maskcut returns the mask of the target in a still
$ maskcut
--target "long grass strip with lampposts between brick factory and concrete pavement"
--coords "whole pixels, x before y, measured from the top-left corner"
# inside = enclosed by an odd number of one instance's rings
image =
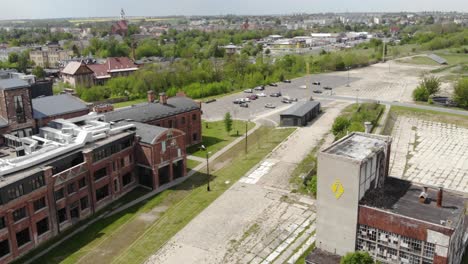
[[[211,192],[206,191],[207,175],[199,172],[144,203],[97,221],[35,263],[144,262],[293,131],[259,128],[249,136],[247,155],[241,141],[210,163]]]

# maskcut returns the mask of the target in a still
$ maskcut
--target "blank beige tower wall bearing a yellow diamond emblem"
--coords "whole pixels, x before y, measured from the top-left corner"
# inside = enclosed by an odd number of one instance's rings
[[[354,252],[358,222],[358,162],[319,153],[317,178],[317,241],[318,248],[345,255]],[[344,192],[337,198],[332,191],[336,181]]]

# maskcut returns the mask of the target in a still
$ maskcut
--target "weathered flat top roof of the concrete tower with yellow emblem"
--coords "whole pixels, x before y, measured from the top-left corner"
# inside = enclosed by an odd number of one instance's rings
[[[352,133],[323,150],[323,153],[362,161],[391,142],[392,139],[387,136]]]

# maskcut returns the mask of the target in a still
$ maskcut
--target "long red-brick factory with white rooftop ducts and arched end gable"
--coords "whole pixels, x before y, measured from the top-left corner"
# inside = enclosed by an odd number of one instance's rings
[[[57,119],[14,138],[0,159],[0,262],[7,263],[92,216],[136,186],[153,190],[186,177],[185,136],[90,114]]]

